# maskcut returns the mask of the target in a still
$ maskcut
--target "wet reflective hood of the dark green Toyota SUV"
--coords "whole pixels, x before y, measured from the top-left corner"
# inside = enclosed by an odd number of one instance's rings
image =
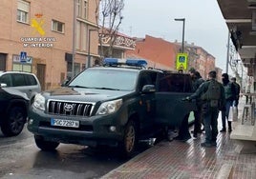
[[[97,102],[117,99],[134,91],[84,88],[59,88],[43,92],[47,99]]]

